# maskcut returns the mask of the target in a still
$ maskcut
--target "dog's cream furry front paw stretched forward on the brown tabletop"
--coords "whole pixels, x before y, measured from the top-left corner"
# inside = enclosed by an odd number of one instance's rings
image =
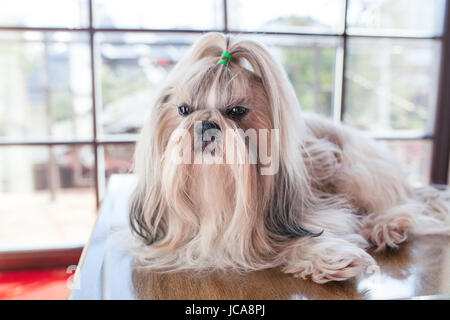
[[[294,277],[311,278],[317,283],[343,281],[364,273],[378,270],[375,260],[363,249],[354,248],[354,252],[328,250],[328,254],[315,255],[312,259],[301,260],[285,265],[282,271],[292,273]]]

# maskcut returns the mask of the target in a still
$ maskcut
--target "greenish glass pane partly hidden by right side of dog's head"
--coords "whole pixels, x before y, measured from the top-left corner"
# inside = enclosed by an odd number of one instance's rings
[[[292,36],[253,37],[265,43],[285,68],[302,110],[331,117],[339,40]]]

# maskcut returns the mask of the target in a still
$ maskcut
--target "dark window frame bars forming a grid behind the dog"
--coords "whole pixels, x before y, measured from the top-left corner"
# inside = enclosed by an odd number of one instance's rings
[[[94,26],[94,5],[95,0],[87,0],[89,21],[87,28],[53,28],[53,27],[7,27],[0,26],[0,31],[40,31],[40,32],[83,32],[88,34],[89,37],[89,51],[90,51],[90,74],[91,74],[91,97],[92,97],[92,139],[87,140],[39,140],[39,141],[13,141],[8,138],[5,141],[0,141],[0,148],[7,146],[55,146],[55,145],[90,145],[94,149],[94,170],[95,170],[95,194],[97,208],[101,204],[103,198],[104,189],[104,172],[99,172],[102,166],[99,164],[100,155],[99,150],[107,144],[129,144],[135,143],[137,136],[124,136],[123,138],[103,138],[98,135],[97,115],[99,113],[100,102],[98,100],[98,83],[96,82],[96,64],[97,49],[95,43],[95,37],[98,33],[187,33],[187,34],[201,34],[205,32],[223,32],[226,34],[261,34],[261,35],[289,35],[289,36],[308,36],[308,37],[333,37],[340,40],[341,45],[337,47],[336,57],[336,74],[334,84],[334,97],[335,102],[333,104],[333,118],[336,122],[342,121],[345,113],[345,88],[346,79],[345,71],[347,64],[347,43],[351,38],[367,38],[367,39],[434,39],[441,42],[441,60],[440,60],[440,74],[439,74],[439,88],[437,92],[436,112],[434,119],[434,131],[431,135],[414,135],[414,136],[386,136],[377,137],[379,140],[432,140],[433,151],[431,159],[430,170],[430,182],[433,184],[447,184],[449,176],[449,155],[450,155],[450,0],[446,0],[445,3],[445,17],[444,27],[440,36],[430,37],[414,37],[414,36],[396,36],[396,35],[369,35],[369,34],[348,34],[347,32],[347,13],[349,0],[344,0],[344,15],[343,15],[343,28],[340,33],[307,33],[307,32],[267,32],[267,31],[237,31],[229,28],[228,25],[228,0],[223,0],[223,27],[220,29],[208,29],[208,30],[191,30],[191,29],[130,29],[130,28],[97,28]],[[102,160],[103,161],[103,160]],[[69,249],[68,249],[69,250]],[[70,249],[73,250],[73,249]],[[9,253],[11,255],[11,253]],[[34,257],[34,256],[33,256]],[[76,263],[78,259],[74,260]],[[2,256],[0,253],[0,262]],[[22,261],[22,260],[20,260]],[[40,261],[35,259],[35,261]],[[67,263],[67,261],[65,261]],[[14,267],[14,266],[10,266]],[[17,266],[16,266],[17,267]],[[20,266],[19,266],[20,267]]]

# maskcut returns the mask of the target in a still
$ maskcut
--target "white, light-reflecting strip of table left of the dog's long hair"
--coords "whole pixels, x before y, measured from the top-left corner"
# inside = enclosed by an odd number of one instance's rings
[[[135,299],[133,258],[128,251],[128,201],[136,184],[131,174],[112,175],[97,222],[83,251],[69,299]]]

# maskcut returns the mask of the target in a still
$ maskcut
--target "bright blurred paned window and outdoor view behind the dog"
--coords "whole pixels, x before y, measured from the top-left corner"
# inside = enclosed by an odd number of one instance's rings
[[[446,11],[445,0],[2,0],[0,269],[24,252],[79,256],[160,84],[206,31],[252,34],[304,110],[378,139],[415,186],[446,183]]]

